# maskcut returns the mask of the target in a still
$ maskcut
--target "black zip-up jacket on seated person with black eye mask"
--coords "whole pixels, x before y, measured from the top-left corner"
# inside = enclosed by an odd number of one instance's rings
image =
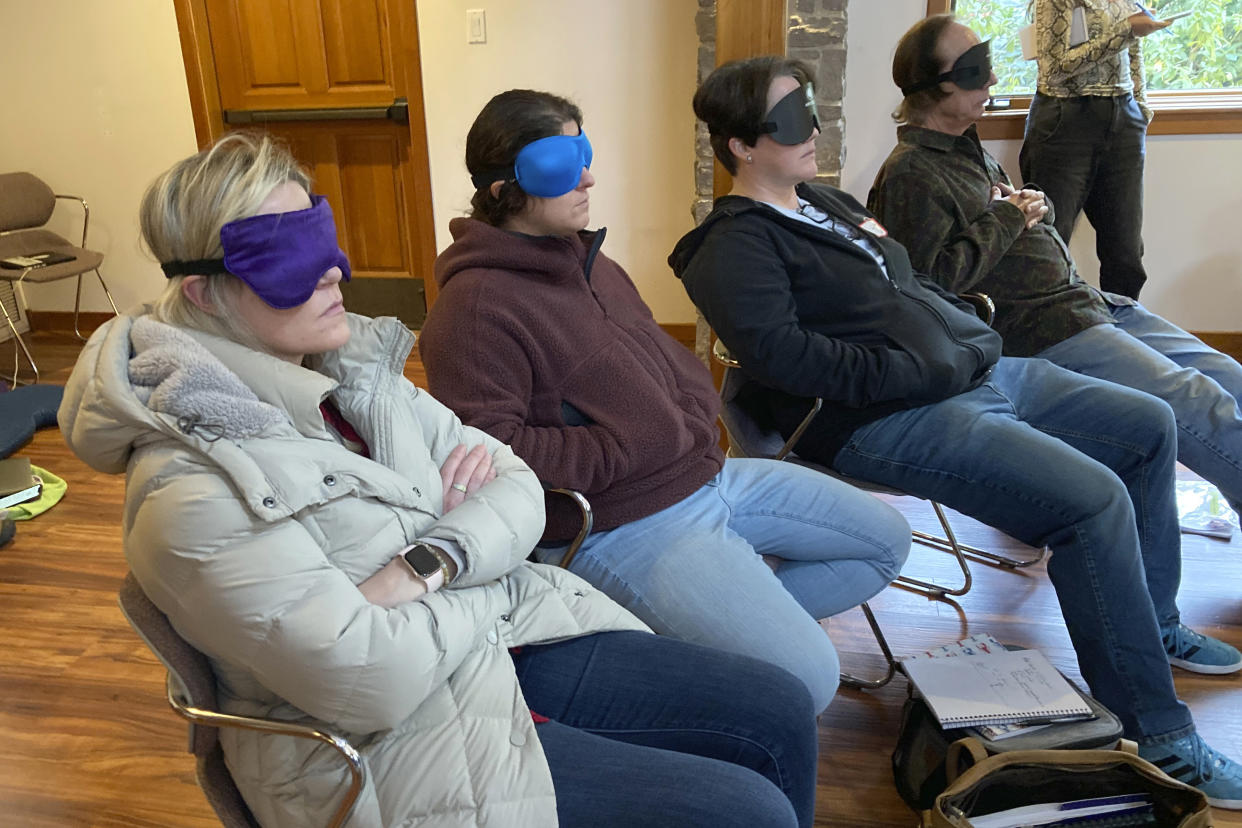
[[[872,218],[833,187],[802,184],[799,195],[854,226]],[[887,276],[831,230],[724,196],[668,257],[741,364],[754,416],[787,436],[807,397],[823,397],[799,452],[825,463],[859,426],[980,385],[1001,353],[970,305],[912,271],[905,248],[874,241]]]

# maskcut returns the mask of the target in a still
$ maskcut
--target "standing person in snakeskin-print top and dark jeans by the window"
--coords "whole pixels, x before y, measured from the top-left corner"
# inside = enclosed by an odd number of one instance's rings
[[[1067,245],[1078,214],[1087,214],[1100,287],[1138,299],[1148,279],[1143,164],[1151,120],[1139,41],[1169,21],[1130,0],[1033,1],[1040,71],[1018,155],[1022,179],[1057,205]]]

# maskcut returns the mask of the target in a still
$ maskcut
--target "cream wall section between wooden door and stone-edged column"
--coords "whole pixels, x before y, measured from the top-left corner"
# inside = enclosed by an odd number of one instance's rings
[[[466,10],[487,43],[466,42]],[[496,93],[543,89],[578,103],[595,149],[591,226],[662,323],[694,308],[666,257],[694,226],[697,0],[436,0],[419,4],[436,247],[469,210],[466,132]]]

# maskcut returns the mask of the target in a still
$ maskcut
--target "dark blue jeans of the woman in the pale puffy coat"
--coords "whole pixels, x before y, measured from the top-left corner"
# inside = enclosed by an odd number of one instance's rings
[[[647,633],[513,657],[565,828],[766,826],[815,818],[806,688],[766,662]]]

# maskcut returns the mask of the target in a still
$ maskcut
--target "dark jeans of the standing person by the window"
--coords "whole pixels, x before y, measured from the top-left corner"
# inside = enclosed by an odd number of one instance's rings
[[[1018,165],[1043,190],[1069,243],[1079,212],[1095,228],[1099,284],[1139,298],[1143,269],[1143,164],[1148,122],[1134,96],[1036,94]]]

